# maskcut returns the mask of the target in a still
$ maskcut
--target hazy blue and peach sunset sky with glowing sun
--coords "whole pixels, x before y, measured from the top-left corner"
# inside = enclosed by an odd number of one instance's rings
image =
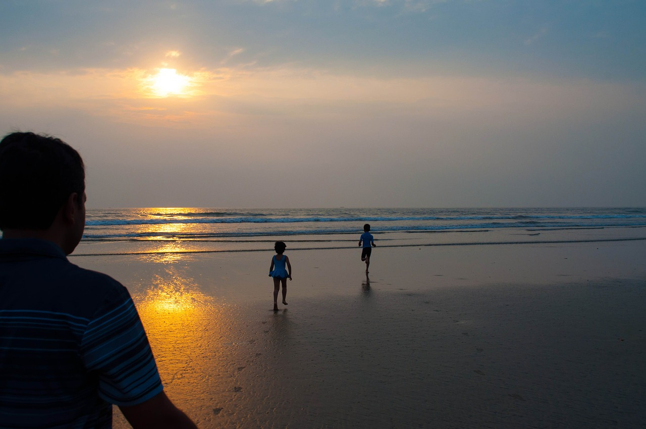
[[[107,207],[646,206],[643,0],[3,0]]]

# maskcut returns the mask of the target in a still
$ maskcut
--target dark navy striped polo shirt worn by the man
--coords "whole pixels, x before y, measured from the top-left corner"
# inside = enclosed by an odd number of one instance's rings
[[[0,240],[0,428],[110,428],[163,390],[127,289],[45,240]]]

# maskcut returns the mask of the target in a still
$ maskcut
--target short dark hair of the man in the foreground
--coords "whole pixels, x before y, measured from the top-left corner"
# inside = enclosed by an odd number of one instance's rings
[[[0,229],[47,229],[70,194],[83,192],[83,160],[64,141],[33,132],[0,141]]]

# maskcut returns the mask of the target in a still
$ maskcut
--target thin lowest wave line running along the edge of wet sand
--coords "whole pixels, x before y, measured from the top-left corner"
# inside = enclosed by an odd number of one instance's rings
[[[504,241],[504,242],[470,242],[470,243],[426,243],[426,244],[392,244],[390,247],[436,247],[436,246],[506,246],[516,244],[574,244],[574,243],[602,243],[602,242],[629,242],[643,241],[646,237],[633,238],[597,238],[590,240],[543,240],[543,241]],[[353,247],[293,247],[289,251],[297,250],[342,250],[353,249]],[[170,251],[144,251],[144,252],[121,252],[121,253],[81,253],[69,256],[136,256],[136,255],[173,255],[173,254],[195,254],[195,253],[244,253],[244,252],[267,252],[271,249],[213,249],[213,250],[170,250]]]

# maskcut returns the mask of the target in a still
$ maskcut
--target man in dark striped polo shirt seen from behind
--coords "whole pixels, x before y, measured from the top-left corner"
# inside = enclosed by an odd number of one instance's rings
[[[163,392],[130,295],[67,260],[85,227],[83,160],[61,140],[0,141],[0,427],[196,428]]]

